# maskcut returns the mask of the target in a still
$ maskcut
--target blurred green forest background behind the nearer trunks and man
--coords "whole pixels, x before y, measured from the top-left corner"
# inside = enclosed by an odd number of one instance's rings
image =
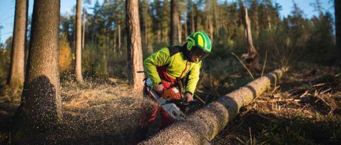
[[[91,2],[95,2],[91,5]],[[325,1],[324,1],[325,2]],[[330,2],[330,1],[329,1]],[[332,2],[332,1],[331,1]],[[92,13],[83,10],[82,72],[85,77],[127,78],[126,28],[123,0],[83,1]],[[281,5],[273,0],[179,0],[178,44],[195,30],[204,30],[213,40],[213,53],[204,68],[212,77],[239,71],[233,65],[231,52],[242,55],[247,43],[244,34],[243,4],[251,20],[253,43],[260,58],[269,51],[267,66],[309,63],[330,65],[336,62],[333,14],[319,0],[310,5],[316,15],[307,18],[293,1],[291,13],[280,16]],[[75,7],[61,15],[60,70],[62,77],[73,72],[75,47]],[[140,30],[143,58],[169,45],[170,2],[168,0],[139,0]],[[1,30],[1,29],[0,29]],[[27,37],[30,37],[30,18]],[[0,44],[0,82],[6,83],[10,66],[12,38]],[[27,43],[28,44],[28,43]],[[228,63],[226,63],[228,62]],[[229,63],[230,62],[230,63]],[[234,67],[229,67],[234,66]],[[218,70],[218,68],[224,68]],[[64,74],[64,75],[63,75]],[[216,78],[212,78],[216,79]],[[217,78],[224,79],[224,78]],[[226,78],[225,78],[226,79]]]

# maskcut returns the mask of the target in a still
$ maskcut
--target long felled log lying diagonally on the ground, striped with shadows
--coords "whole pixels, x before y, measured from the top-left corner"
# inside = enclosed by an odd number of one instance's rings
[[[221,96],[216,101],[189,115],[184,121],[178,121],[161,130],[150,139],[140,144],[203,144],[206,139],[212,140],[241,107],[249,104],[270,84],[283,75],[287,68],[276,69],[237,90]]]

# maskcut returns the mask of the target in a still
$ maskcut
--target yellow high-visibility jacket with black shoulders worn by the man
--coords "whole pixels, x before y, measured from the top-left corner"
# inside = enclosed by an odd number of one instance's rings
[[[153,85],[161,84],[164,77],[159,76],[164,71],[170,79],[179,80],[189,74],[186,92],[194,93],[200,74],[202,61],[191,62],[186,53],[186,46],[168,46],[151,54],[144,60],[144,68]],[[166,80],[169,81],[169,80]]]

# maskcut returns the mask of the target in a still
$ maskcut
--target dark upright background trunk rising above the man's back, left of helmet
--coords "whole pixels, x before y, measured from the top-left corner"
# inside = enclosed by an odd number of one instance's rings
[[[178,3],[177,0],[170,1],[170,45],[178,44]]]

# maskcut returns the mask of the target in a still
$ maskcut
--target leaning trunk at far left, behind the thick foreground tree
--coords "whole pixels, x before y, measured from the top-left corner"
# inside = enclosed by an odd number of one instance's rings
[[[7,83],[18,89],[24,84],[25,44],[27,30],[28,0],[16,0],[13,28],[10,73]]]

